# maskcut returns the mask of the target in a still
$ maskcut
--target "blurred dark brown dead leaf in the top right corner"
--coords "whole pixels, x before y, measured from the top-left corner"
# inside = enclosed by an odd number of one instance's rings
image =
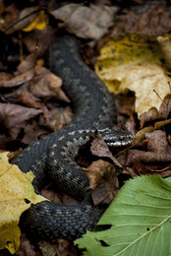
[[[145,1],[145,5],[136,8],[125,8],[118,15],[110,34],[125,35],[128,33],[143,33],[158,35],[171,31],[171,7],[164,1]]]

